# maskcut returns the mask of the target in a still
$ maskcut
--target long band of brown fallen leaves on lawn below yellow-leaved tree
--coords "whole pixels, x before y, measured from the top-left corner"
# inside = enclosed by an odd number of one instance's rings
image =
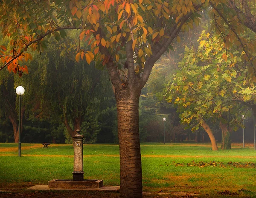
[[[175,161],[173,162],[175,163]],[[256,163],[253,162],[216,162],[216,161],[210,161],[210,162],[203,162],[203,161],[199,161],[199,162],[195,162],[194,160],[191,161],[191,163],[175,163],[176,167],[235,167],[235,168],[256,168]]]

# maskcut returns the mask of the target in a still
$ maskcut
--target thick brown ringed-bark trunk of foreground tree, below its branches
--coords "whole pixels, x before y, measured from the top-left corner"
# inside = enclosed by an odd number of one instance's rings
[[[133,91],[133,90],[132,90]],[[120,197],[142,197],[139,97],[129,88],[116,93],[120,151]]]

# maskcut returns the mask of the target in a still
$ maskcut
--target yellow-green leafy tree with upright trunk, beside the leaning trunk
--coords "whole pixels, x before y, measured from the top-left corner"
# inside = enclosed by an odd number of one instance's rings
[[[207,119],[218,120],[222,130],[221,148],[229,149],[230,133],[241,125],[241,115],[246,110],[245,103],[234,101],[239,101],[241,93],[248,89],[244,82],[247,67],[241,64],[240,57],[227,57],[217,38],[209,36],[203,31],[197,52],[186,48],[187,54],[174,76],[168,99],[169,102],[175,99],[183,122],[191,124],[193,118],[198,120],[192,130]]]

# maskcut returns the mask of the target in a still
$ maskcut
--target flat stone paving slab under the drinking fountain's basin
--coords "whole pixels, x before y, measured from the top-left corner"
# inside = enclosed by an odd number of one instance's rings
[[[119,191],[120,186],[103,186],[101,188],[78,188],[78,189],[68,189],[68,188],[49,188],[48,185],[35,185],[33,187],[27,188],[26,190],[92,190],[92,191]]]

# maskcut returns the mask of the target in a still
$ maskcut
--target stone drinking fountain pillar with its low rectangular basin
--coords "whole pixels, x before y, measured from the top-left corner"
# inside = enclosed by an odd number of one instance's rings
[[[83,139],[80,130],[76,130],[74,140],[74,171],[73,180],[69,179],[53,179],[48,181],[49,188],[62,189],[99,189],[103,187],[102,179],[84,179],[83,171]]]

